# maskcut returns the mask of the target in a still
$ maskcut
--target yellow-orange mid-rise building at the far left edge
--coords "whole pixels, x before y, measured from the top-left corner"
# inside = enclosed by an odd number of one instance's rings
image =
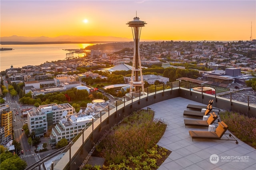
[[[0,145],[12,140],[12,111],[9,105],[0,106]]]

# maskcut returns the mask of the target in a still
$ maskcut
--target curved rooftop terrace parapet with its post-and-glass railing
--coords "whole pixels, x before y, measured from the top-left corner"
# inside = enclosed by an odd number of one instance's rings
[[[246,91],[236,92],[234,89],[208,87],[176,81],[145,88],[144,94],[138,91],[134,92],[131,97],[124,96],[117,99],[105,107],[104,113],[100,112],[97,119],[92,120],[90,127],[80,131],[78,134],[80,137],[73,139],[62,153],[52,160],[51,167],[46,168],[53,168],[54,170],[78,169],[81,164],[86,164],[90,158],[91,150],[106,130],[132,111],[170,98],[183,97],[204,104],[207,104],[209,99],[214,99],[215,107],[227,110],[234,109],[234,111],[240,110],[248,116],[256,116],[252,114],[256,111],[256,96],[250,95],[251,93],[247,94]],[[223,95],[228,96],[221,97]],[[237,96],[243,96],[244,99],[239,101],[240,98],[235,98]]]

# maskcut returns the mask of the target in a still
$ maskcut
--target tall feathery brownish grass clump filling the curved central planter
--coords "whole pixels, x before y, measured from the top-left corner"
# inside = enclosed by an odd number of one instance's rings
[[[139,156],[144,150],[154,147],[166,129],[166,123],[153,118],[152,110],[132,113],[125,118],[125,123],[110,129],[97,150],[102,151],[108,164],[120,164],[130,153]]]

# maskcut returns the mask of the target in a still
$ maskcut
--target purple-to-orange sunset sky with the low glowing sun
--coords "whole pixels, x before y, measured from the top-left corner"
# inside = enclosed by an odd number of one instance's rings
[[[140,39],[256,39],[256,0],[0,0],[0,37],[113,36],[132,38],[126,24],[147,24]]]

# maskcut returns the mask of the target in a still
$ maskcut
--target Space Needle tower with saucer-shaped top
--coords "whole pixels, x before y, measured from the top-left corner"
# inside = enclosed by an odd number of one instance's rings
[[[141,93],[145,94],[144,92],[144,84],[143,82],[143,76],[142,76],[142,68],[141,68],[141,61],[140,61],[140,48],[139,48],[139,42],[140,42],[140,33],[141,28],[147,24],[145,21],[140,21],[140,18],[136,17],[133,18],[132,21],[129,21],[128,23],[129,27],[132,27],[132,35],[134,40],[134,53],[133,53],[133,61],[132,61],[132,76],[130,84],[130,93],[128,94],[129,97],[132,96],[132,90],[134,88],[134,92],[138,93],[141,87]],[[139,80],[140,75],[140,80]]]

